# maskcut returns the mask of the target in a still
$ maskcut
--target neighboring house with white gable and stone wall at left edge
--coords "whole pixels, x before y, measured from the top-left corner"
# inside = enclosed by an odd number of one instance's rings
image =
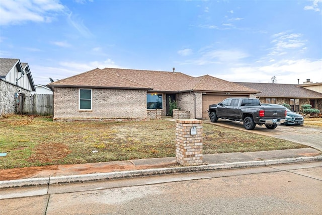
[[[32,91],[36,88],[28,63],[0,58],[0,116],[21,113]]]

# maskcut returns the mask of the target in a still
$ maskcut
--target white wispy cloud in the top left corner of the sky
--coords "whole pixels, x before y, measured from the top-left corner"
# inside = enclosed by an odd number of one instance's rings
[[[17,25],[22,22],[51,22],[55,12],[65,7],[57,0],[6,0],[0,4],[0,25]]]

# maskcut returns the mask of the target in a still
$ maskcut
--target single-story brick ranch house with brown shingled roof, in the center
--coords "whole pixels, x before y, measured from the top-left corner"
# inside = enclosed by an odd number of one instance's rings
[[[228,97],[256,97],[258,90],[212,76],[169,71],[96,68],[52,82],[53,119],[146,120],[169,113],[169,97],[190,118],[208,118],[210,104]]]

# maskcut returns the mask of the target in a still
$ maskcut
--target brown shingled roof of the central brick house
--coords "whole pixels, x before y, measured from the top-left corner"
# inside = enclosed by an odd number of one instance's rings
[[[123,68],[93,69],[73,77],[49,84],[54,87],[94,87],[94,88],[144,88],[150,92],[243,92],[259,93],[232,82],[201,76],[194,78],[173,71],[153,71]]]

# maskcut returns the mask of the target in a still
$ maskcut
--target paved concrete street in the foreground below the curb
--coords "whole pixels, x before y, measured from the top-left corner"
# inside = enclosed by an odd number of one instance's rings
[[[1,214],[321,214],[322,162],[11,188]],[[17,197],[17,196],[29,197]],[[16,197],[16,198],[12,198]]]

